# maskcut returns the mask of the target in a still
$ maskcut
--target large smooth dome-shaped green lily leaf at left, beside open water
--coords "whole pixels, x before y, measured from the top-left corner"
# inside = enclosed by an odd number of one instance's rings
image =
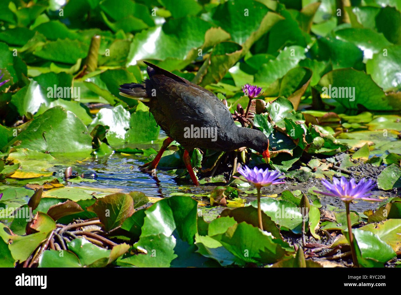
[[[73,153],[92,150],[92,136],[86,126],[75,114],[61,106],[51,108],[32,120],[7,146],[17,140],[21,141],[19,148],[41,152]]]

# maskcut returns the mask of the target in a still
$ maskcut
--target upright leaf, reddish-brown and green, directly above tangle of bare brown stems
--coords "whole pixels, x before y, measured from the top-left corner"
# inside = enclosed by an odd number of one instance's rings
[[[112,193],[86,208],[99,217],[106,231],[123,224],[124,220],[134,214],[134,200],[128,193]]]

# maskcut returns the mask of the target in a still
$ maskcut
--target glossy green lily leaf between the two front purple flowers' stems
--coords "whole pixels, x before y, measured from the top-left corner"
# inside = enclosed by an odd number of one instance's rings
[[[257,208],[256,200],[249,204]],[[282,230],[291,230],[294,234],[301,233],[302,214],[294,203],[276,200],[271,197],[262,197],[260,205],[261,210],[278,224]]]

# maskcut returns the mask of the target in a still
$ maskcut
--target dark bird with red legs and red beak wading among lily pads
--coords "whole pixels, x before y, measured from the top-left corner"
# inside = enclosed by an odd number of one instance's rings
[[[246,146],[270,161],[269,145],[260,130],[235,125],[228,108],[212,92],[178,77],[156,65],[148,65],[149,79],[144,83],[120,85],[119,94],[140,100],[149,107],[157,124],[166,132],[156,158],[146,164],[156,169],[163,152],[176,140],[185,148],[183,161],[195,185],[199,185],[188,151],[194,148],[234,151]]]

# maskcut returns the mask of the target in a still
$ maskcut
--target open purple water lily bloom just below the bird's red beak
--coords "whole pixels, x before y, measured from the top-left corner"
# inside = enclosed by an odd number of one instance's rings
[[[265,171],[263,171],[263,169],[257,169],[257,167],[254,167],[253,169],[250,169],[246,165],[244,167],[245,168],[238,167],[237,171],[239,174],[245,177],[247,182],[253,183],[255,186],[261,187],[285,183],[285,181],[282,181],[282,178],[279,179],[279,177],[284,175],[284,173],[281,173],[277,170],[269,171],[267,168]],[[234,177],[239,178],[236,176]]]

